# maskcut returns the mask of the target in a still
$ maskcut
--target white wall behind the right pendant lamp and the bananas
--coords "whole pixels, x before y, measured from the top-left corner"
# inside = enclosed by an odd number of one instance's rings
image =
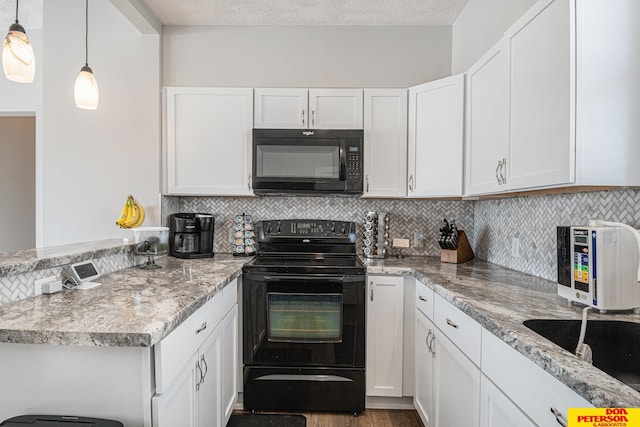
[[[115,225],[128,194],[160,224],[160,37],[142,35],[108,0],[89,2],[96,111],[75,107],[84,65],[82,0],[44,2],[42,241],[129,237]]]

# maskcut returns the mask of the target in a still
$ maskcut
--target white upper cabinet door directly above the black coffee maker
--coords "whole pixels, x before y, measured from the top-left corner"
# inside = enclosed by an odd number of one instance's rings
[[[168,194],[251,194],[252,89],[167,88]]]

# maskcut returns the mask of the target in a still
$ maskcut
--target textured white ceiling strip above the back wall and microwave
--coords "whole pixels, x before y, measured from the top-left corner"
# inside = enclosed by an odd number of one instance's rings
[[[164,25],[451,25],[468,0],[142,0]]]

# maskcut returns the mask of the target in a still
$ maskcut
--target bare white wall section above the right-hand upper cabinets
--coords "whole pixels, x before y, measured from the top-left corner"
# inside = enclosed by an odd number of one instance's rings
[[[452,74],[469,69],[536,0],[469,0],[453,24]]]

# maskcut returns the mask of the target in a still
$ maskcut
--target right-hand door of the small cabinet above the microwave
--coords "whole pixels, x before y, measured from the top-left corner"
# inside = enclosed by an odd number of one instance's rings
[[[309,127],[362,129],[362,89],[310,89]]]

